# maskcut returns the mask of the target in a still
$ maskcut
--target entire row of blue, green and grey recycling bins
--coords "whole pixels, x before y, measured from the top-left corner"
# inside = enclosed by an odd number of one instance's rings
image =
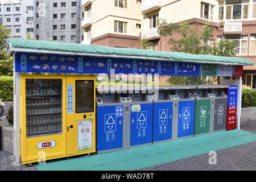
[[[170,86],[97,93],[97,152],[226,130],[229,86]]]

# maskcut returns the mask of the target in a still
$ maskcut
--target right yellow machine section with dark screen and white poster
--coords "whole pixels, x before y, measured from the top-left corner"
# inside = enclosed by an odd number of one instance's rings
[[[95,76],[67,76],[67,155],[96,152]]]

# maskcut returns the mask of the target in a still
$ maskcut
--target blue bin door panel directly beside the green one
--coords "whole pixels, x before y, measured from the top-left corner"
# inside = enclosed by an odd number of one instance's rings
[[[177,137],[193,135],[195,122],[195,101],[180,101]]]

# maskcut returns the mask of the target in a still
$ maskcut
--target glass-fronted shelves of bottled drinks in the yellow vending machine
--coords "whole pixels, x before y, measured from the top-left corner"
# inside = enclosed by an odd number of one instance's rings
[[[26,79],[27,138],[62,134],[62,80]]]

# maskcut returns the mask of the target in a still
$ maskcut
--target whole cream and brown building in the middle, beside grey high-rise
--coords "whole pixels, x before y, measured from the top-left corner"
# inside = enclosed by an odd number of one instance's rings
[[[110,47],[138,48],[141,0],[81,0],[84,42]]]

